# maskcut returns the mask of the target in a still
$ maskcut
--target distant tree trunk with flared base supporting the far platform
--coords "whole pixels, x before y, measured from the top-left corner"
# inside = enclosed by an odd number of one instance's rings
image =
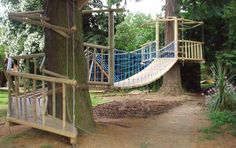
[[[166,0],[165,17],[177,16],[178,0]],[[165,26],[165,45],[174,40],[174,22],[167,22]],[[183,93],[181,85],[180,65],[176,63],[163,77],[160,89],[163,95],[180,95]]]

